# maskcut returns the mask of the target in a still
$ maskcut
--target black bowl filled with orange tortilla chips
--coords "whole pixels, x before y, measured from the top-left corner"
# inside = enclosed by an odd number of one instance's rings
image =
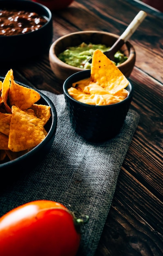
[[[46,157],[57,113],[42,92],[14,81],[12,70],[0,78],[0,88],[0,172],[11,179],[32,171]]]

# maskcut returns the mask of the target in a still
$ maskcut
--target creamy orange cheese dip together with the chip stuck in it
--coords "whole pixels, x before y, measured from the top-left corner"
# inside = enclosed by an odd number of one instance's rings
[[[92,57],[91,77],[68,89],[74,99],[91,105],[109,105],[125,99],[129,81],[99,49]]]

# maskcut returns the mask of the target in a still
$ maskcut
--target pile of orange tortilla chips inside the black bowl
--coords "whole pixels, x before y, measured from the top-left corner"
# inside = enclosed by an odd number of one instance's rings
[[[40,94],[16,83],[13,70],[0,81],[0,164],[37,146],[47,135],[50,106],[38,105]]]

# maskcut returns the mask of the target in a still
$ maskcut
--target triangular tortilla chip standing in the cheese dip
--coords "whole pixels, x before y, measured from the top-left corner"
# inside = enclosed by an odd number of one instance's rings
[[[92,56],[91,81],[105,88],[110,94],[126,88],[129,83],[118,67],[99,49]]]

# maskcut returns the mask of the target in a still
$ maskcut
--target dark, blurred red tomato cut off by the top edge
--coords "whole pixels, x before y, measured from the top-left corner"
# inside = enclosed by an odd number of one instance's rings
[[[52,11],[66,8],[71,4],[71,2],[73,2],[73,0],[33,0],[33,1],[45,5]]]

